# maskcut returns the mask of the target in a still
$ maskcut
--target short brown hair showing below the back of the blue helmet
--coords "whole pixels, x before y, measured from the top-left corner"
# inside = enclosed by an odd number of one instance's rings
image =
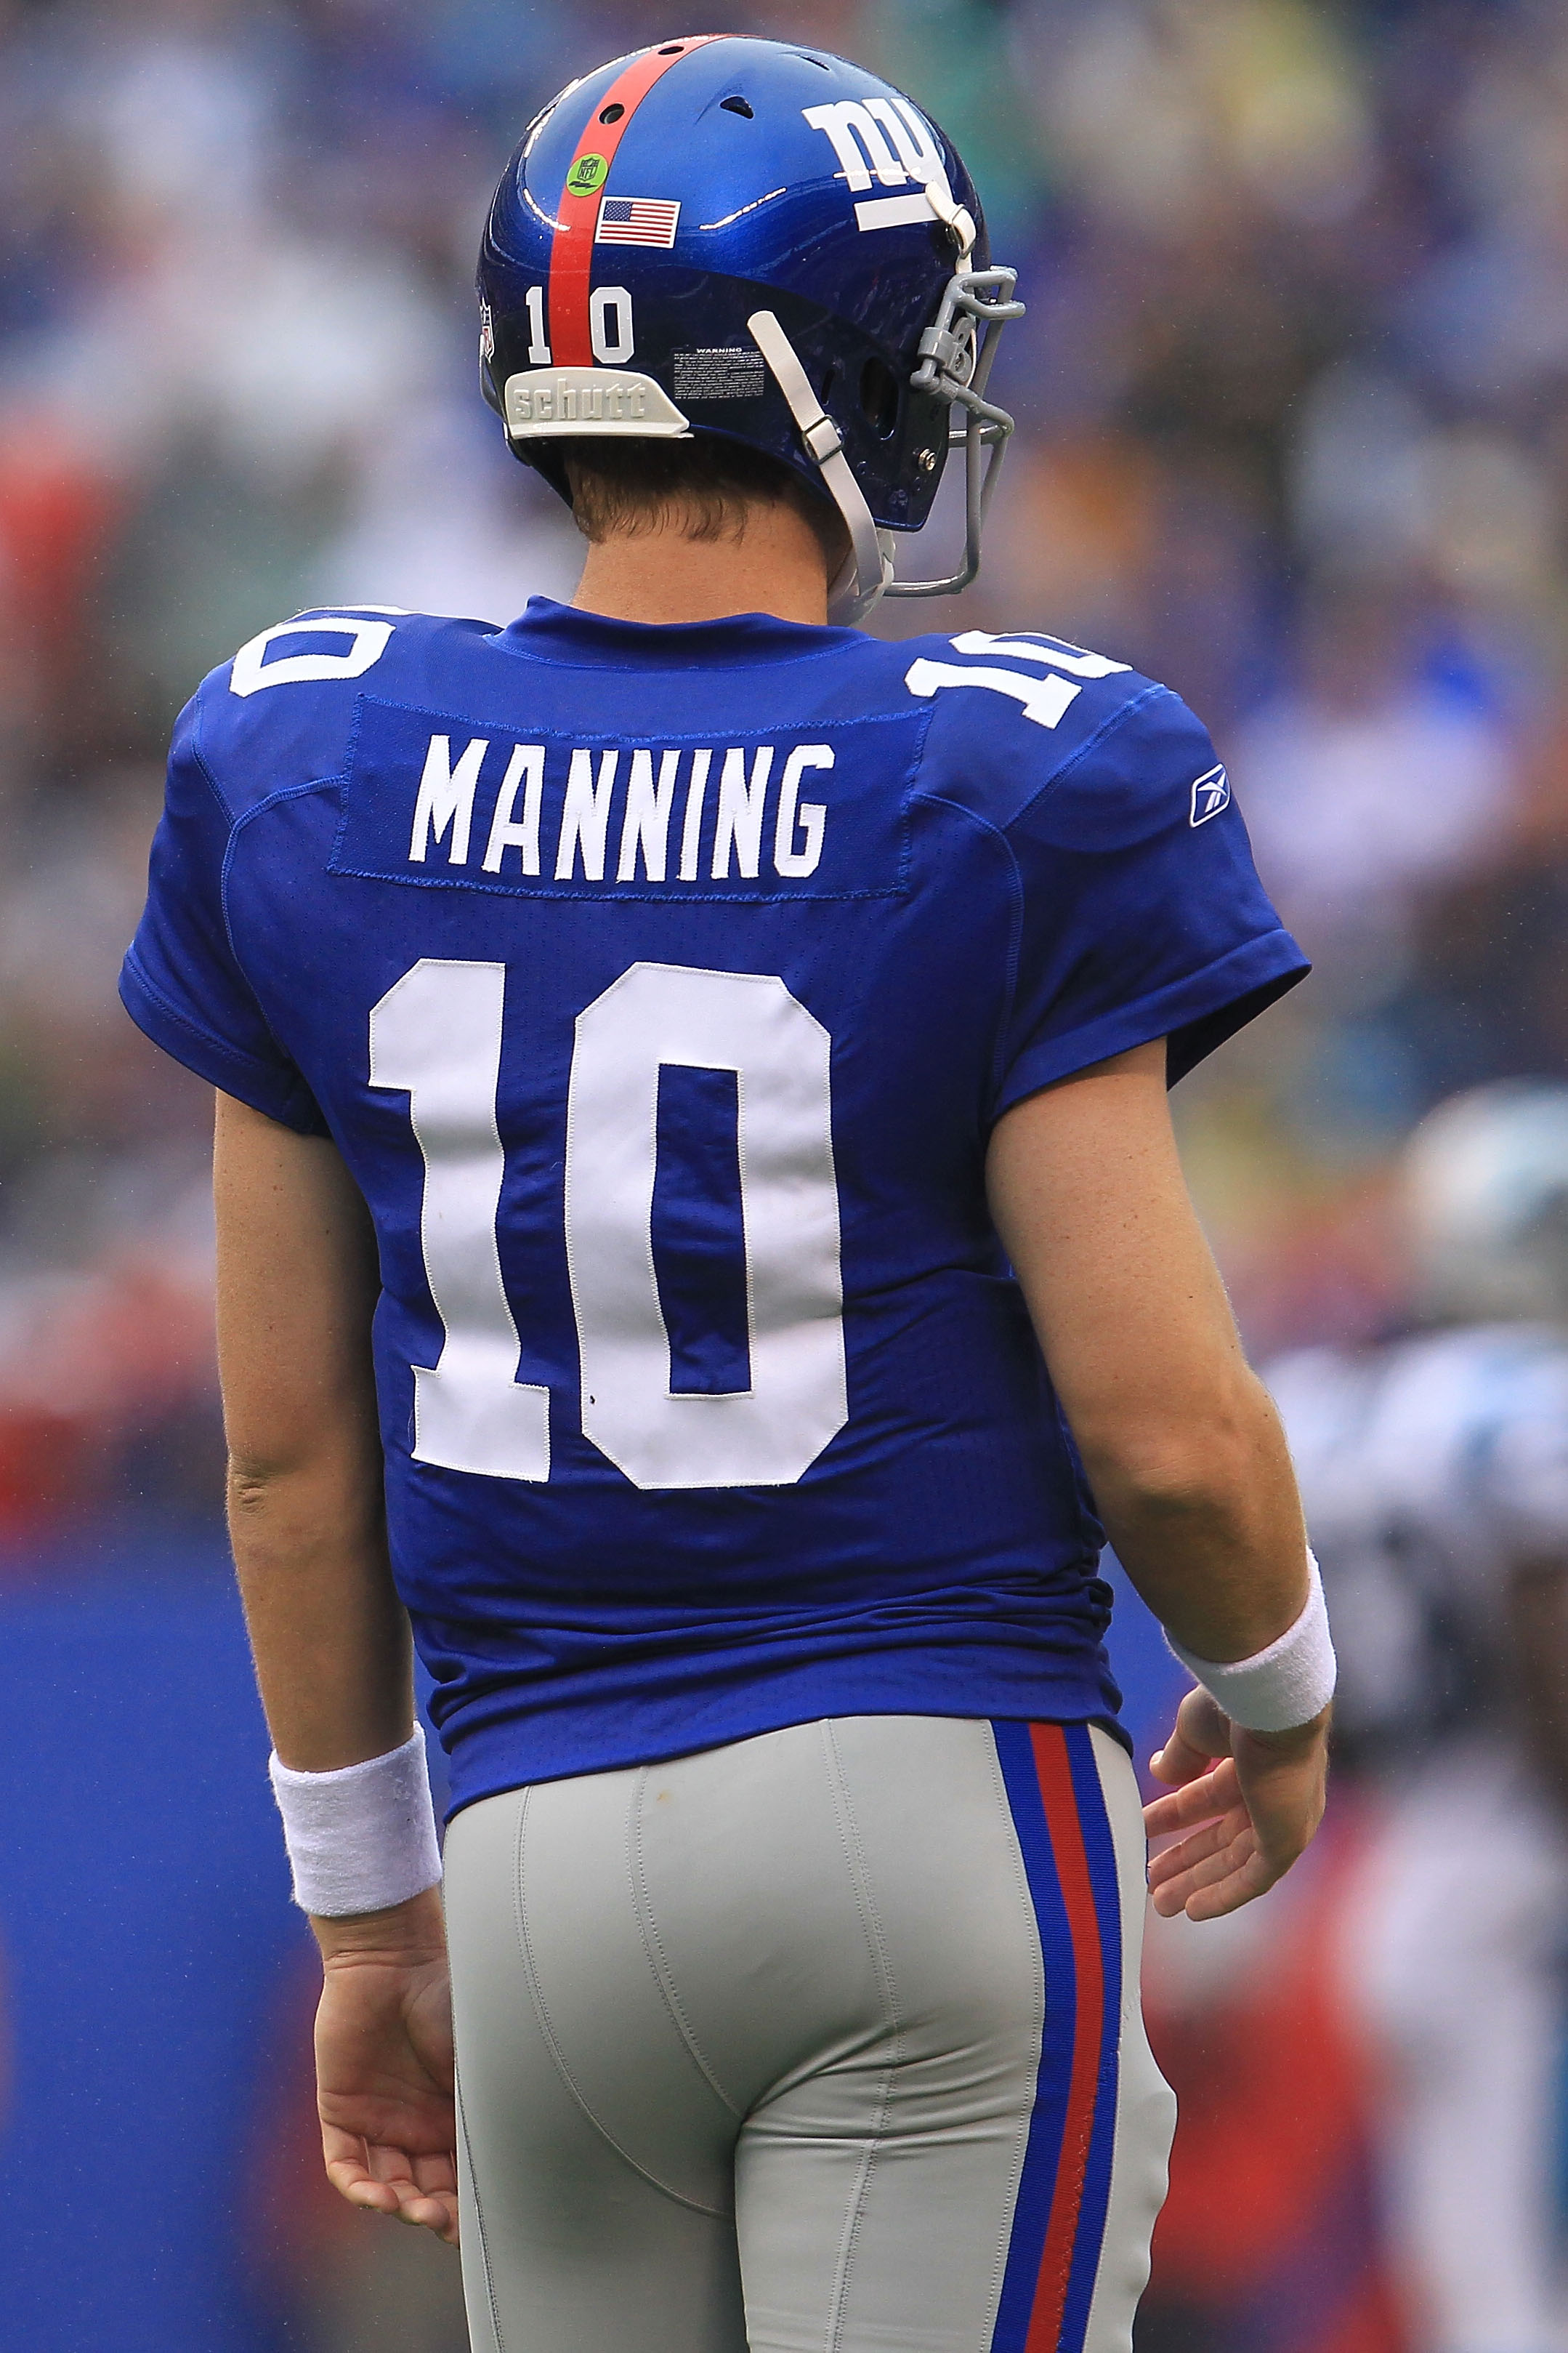
[[[583,539],[675,527],[686,539],[738,539],[755,501],[792,506],[811,525],[835,579],[849,555],[844,518],[802,478],[743,442],[717,440],[562,440],[571,518]]]

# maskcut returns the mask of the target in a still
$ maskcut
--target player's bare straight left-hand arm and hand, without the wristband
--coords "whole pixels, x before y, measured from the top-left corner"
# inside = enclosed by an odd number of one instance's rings
[[[228,1094],[214,1200],[228,1518],[256,1680],[282,1762],[331,1772],[414,1722],[371,1372],[376,1245],[336,1148]],[[456,2242],[440,1892],[310,1925],[327,2174],[353,2205]]]

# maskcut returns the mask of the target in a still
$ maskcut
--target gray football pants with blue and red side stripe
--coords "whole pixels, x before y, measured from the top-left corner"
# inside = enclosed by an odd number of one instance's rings
[[[461,1812],[475,2353],[1128,2353],[1143,1904],[1084,1725],[858,1715]]]

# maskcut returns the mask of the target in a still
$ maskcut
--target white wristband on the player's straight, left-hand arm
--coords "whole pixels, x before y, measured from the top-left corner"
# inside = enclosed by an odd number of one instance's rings
[[[336,1772],[294,1772],[273,1751],[273,1795],[294,1871],[294,1901],[322,1920],[386,1911],[435,1887],[435,1842],[425,1737]]]

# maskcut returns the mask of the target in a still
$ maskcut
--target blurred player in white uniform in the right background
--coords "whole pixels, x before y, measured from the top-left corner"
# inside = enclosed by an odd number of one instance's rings
[[[1549,2353],[1568,1958],[1568,1087],[1439,1106],[1406,1155],[1429,1329],[1267,1379],[1380,1791],[1345,1927],[1387,2068],[1420,2353]]]

